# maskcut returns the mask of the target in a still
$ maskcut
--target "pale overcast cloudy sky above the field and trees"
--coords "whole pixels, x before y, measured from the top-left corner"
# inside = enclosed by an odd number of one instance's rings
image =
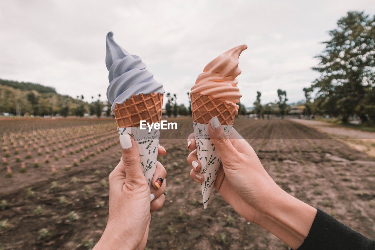
[[[0,5],[0,78],[31,81],[86,99],[105,93],[105,36],[140,56],[167,92],[187,92],[219,54],[247,44],[240,56],[241,102],[291,102],[317,76],[313,57],[347,11],[375,14],[374,0],[52,1]]]

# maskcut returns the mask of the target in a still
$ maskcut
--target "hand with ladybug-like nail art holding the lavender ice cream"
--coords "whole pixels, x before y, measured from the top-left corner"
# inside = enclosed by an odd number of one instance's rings
[[[108,222],[95,249],[144,249],[151,213],[165,201],[166,171],[162,164],[156,164],[150,189],[135,142],[130,136],[121,135],[120,143],[122,158],[109,176]],[[165,154],[165,149],[159,146],[158,155]]]

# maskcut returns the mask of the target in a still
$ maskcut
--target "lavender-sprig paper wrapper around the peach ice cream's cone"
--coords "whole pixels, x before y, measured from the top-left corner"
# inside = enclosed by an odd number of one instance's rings
[[[204,182],[201,184],[204,208],[207,208],[221,163],[220,155],[208,136],[207,127],[208,124],[193,122],[196,152],[198,161],[201,163],[199,172],[204,176]],[[222,127],[226,136],[229,137],[232,126],[222,125]]]

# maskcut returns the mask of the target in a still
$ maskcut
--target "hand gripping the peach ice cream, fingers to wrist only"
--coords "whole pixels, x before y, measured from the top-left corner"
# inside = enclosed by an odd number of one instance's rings
[[[279,190],[279,186],[263,168],[254,149],[234,128],[228,139],[221,126],[216,129],[211,125],[207,127],[222,163],[214,183],[215,189],[238,214],[248,221],[256,221],[259,211],[263,211],[266,206],[268,194]],[[197,157],[194,134],[188,138],[188,148],[192,151],[187,157],[187,162],[192,166],[190,177],[202,183],[204,177],[198,172],[201,164]]]

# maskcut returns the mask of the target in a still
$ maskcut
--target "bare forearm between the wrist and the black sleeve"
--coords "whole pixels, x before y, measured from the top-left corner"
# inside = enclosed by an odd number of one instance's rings
[[[309,234],[316,214],[317,209],[278,188],[254,222],[297,249]]]

